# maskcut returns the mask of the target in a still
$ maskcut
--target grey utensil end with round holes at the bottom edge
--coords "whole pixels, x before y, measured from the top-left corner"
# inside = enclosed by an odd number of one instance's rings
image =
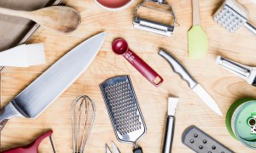
[[[198,153],[234,153],[234,151],[225,147],[224,144],[220,144],[216,139],[213,139],[210,135],[195,126],[185,129],[182,142],[191,150]]]

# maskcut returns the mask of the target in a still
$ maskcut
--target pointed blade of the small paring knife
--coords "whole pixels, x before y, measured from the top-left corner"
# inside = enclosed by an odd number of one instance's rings
[[[212,111],[215,111],[218,115],[223,116],[216,102],[207,93],[207,91],[201,87],[200,84],[197,84],[195,88],[193,88],[193,91],[208,105],[208,107],[212,109]]]

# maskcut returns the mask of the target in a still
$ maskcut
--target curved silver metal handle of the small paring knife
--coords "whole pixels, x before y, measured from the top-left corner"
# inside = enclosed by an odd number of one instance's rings
[[[160,49],[160,52],[158,53],[160,56],[162,56],[164,59],[168,61],[168,63],[172,66],[172,70],[177,73],[182,79],[189,84],[189,88],[194,88],[197,82],[190,76],[189,72],[183,67],[182,64],[177,61],[174,57],[172,57],[171,54],[168,54],[163,49]]]

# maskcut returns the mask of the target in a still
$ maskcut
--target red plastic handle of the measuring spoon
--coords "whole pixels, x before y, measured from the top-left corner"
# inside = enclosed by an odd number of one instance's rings
[[[128,48],[123,56],[155,87],[159,87],[164,81],[164,79],[160,77],[157,72],[155,72],[147,63],[145,63],[143,59],[138,57],[137,54],[133,53],[130,48]]]

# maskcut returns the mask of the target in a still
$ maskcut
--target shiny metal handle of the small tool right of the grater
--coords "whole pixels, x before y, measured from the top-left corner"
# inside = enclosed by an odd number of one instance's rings
[[[175,125],[175,117],[167,116],[166,119],[166,133],[163,145],[163,153],[171,153],[172,151],[172,141],[174,136],[174,126]]]

